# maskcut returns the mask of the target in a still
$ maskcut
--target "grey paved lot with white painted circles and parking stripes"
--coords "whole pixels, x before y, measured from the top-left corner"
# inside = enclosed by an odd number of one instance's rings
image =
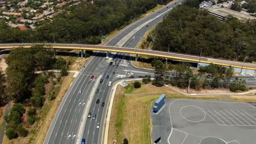
[[[152,113],[153,141],[169,144],[255,143],[254,104],[229,101],[169,99]]]

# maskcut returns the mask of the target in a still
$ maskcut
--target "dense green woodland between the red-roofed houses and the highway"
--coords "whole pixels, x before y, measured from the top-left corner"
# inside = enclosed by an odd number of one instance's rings
[[[95,0],[83,1],[68,7],[54,17],[53,21],[42,21],[34,31],[21,32],[0,22],[0,43],[39,42],[56,43],[101,43],[100,34],[108,34],[125,25],[140,14],[146,13],[156,4],[170,0]]]

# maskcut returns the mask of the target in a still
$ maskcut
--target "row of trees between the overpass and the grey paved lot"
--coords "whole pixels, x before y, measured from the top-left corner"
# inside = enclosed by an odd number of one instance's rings
[[[234,73],[234,68],[223,67],[215,64],[201,66],[199,74],[194,74],[190,69],[190,65],[186,63],[181,64],[164,64],[159,59],[152,61],[152,66],[155,67],[155,79],[152,84],[158,87],[164,86],[165,83],[170,83],[172,86],[180,88],[229,88],[230,91],[246,91],[246,82],[235,79],[231,81]],[[167,73],[167,70],[175,71],[172,75]],[[149,83],[148,76],[144,76],[142,82]]]

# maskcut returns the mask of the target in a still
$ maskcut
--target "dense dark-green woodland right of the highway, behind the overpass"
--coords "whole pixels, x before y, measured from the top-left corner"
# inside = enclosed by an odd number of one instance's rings
[[[206,10],[187,6],[174,8],[150,34],[153,49],[256,61],[256,20],[241,22],[235,17],[219,21]]]

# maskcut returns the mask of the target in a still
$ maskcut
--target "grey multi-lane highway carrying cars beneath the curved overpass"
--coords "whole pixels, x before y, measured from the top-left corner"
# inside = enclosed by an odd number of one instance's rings
[[[160,13],[164,13],[164,11],[168,10],[169,9],[166,8],[161,9]],[[161,15],[160,17],[159,13],[156,12],[142,20],[132,23],[132,25],[127,26],[124,31],[121,31],[116,37],[110,40],[107,45],[118,44],[120,40],[124,40],[122,39],[124,35],[146,22],[147,25],[149,25],[147,29],[145,27],[139,27],[138,31],[135,32],[137,34],[132,34],[132,37],[135,38],[130,39],[126,37],[126,42],[120,45],[135,47],[139,42],[136,37],[142,37],[144,33],[148,31],[150,27],[156,25],[156,23],[158,23],[163,16],[164,15]],[[155,17],[157,18],[155,19]],[[150,25],[150,23],[152,23],[152,25]],[[125,74],[127,70],[132,69],[128,67],[130,62],[124,61],[121,58],[114,59],[114,61],[119,63],[118,68],[115,68],[113,65],[109,66],[108,62],[104,58],[105,56],[105,53],[96,53],[96,56],[92,56],[91,61],[86,64],[85,68],[80,71],[72,83],[72,86],[68,89],[65,98],[62,100],[61,105],[53,119],[53,122],[51,123],[44,143],[80,143],[82,138],[85,139],[86,143],[101,143],[101,135],[103,130],[102,125],[104,122],[104,115],[106,113],[106,106],[110,93],[109,90],[112,87],[108,86],[108,82],[112,81],[113,83],[118,79],[118,74]],[[114,71],[116,74],[112,75]],[[147,74],[146,71],[143,73]],[[106,79],[105,74],[109,74],[109,79]],[[140,71],[138,71],[137,75],[139,74],[141,74]],[[90,80],[91,75],[95,76],[93,80]],[[97,85],[96,81],[100,75],[103,76],[103,82]],[[91,89],[95,89],[95,87],[100,90],[97,94],[94,91],[91,91]],[[94,96],[92,98],[91,105],[88,101],[90,99],[89,95]],[[96,104],[96,99],[100,99],[99,104]],[[106,103],[106,106],[104,107],[102,107],[103,101]],[[85,111],[85,106],[87,105],[90,107],[89,111]],[[91,112],[92,115],[96,114],[96,119],[87,118],[88,112]],[[86,119],[83,118],[83,113],[85,113]],[[85,125],[83,125],[84,122]],[[96,128],[97,123],[100,123],[99,129]],[[82,134],[79,133],[79,129],[82,129]]]

